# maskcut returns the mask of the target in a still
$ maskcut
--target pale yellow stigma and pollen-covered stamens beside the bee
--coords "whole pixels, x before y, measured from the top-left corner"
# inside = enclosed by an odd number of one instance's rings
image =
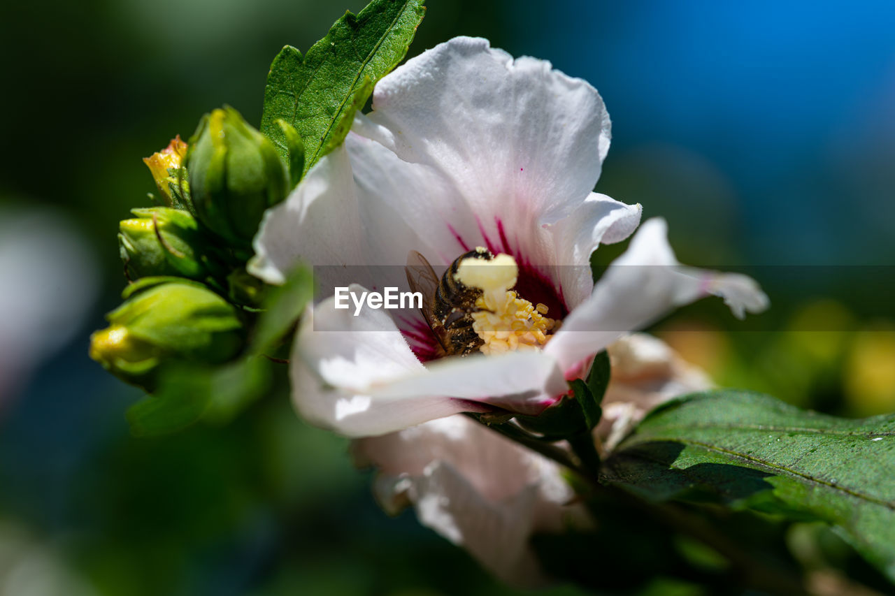
[[[535,350],[550,339],[550,332],[559,321],[545,315],[546,304],[533,305],[510,288],[516,285],[519,268],[508,254],[492,260],[469,258],[460,261],[456,280],[482,290],[473,312],[473,329],[482,337],[483,353],[502,353],[512,350]]]

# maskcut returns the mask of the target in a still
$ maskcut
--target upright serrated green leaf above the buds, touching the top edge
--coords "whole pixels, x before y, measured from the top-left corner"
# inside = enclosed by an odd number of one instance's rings
[[[345,139],[373,84],[401,62],[425,12],[422,0],[373,0],[345,13],[302,55],[286,46],[274,58],[264,89],[261,132],[290,162],[282,119],[304,144],[303,172]]]

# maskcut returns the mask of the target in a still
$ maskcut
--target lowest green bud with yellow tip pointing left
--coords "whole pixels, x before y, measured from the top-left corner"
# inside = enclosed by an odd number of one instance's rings
[[[204,285],[146,278],[124,297],[107,315],[109,327],[90,336],[90,358],[129,383],[151,391],[166,362],[219,364],[243,348],[238,312]]]

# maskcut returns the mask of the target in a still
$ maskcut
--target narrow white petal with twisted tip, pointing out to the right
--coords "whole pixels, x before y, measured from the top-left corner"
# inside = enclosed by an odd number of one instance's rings
[[[681,268],[669,246],[665,221],[650,219],[594,286],[591,297],[563,320],[544,351],[569,370],[626,331],[644,328],[708,294],[723,295],[735,313],[739,308],[762,311],[767,296],[757,285],[746,285],[743,277]]]

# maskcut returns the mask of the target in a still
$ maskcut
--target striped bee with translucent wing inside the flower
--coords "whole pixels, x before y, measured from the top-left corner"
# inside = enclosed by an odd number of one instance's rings
[[[490,251],[477,248],[460,255],[439,277],[429,261],[417,251],[407,255],[407,283],[413,292],[422,294],[422,317],[445,355],[466,356],[482,347],[482,337],[473,329],[473,312],[479,311],[475,301],[482,290],[467,287],[456,279],[456,268],[464,259],[491,260]]]

